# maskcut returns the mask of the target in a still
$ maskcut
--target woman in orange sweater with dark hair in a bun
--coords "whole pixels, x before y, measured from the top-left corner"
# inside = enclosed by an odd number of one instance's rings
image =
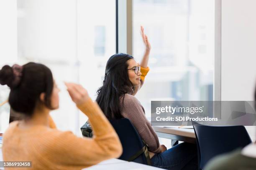
[[[81,170],[122,153],[115,130],[81,85],[66,83],[72,100],[90,120],[92,139],[56,129],[49,112],[59,107],[59,88],[45,65],[5,65],[0,84],[10,87],[10,106],[23,115],[3,135],[4,161],[31,161],[29,170]]]

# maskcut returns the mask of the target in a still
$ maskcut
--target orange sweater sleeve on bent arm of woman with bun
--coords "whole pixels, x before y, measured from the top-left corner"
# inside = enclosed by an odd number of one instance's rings
[[[94,137],[79,138],[70,131],[52,130],[55,135],[48,142],[51,144],[48,147],[51,152],[47,154],[49,159],[61,166],[82,169],[103,160],[118,158],[122,153],[122,145],[114,128],[97,103],[90,99],[77,107],[88,116]]]

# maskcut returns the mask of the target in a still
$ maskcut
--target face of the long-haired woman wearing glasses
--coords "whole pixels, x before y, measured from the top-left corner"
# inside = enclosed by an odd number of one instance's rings
[[[141,72],[138,71],[138,74],[135,73],[135,67],[138,67],[139,64],[134,60],[130,59],[127,61],[128,62],[128,77],[133,86],[138,86],[141,84]]]

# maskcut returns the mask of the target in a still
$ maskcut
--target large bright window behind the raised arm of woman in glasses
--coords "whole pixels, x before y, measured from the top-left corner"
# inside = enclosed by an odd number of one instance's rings
[[[133,0],[133,56],[143,55],[139,28],[151,42],[150,72],[137,97],[151,100],[213,100],[214,0]]]

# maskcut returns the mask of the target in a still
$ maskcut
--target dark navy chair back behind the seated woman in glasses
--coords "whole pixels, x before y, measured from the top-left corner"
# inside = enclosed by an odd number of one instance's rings
[[[120,160],[151,165],[146,144],[141,140],[137,130],[129,119],[109,120],[114,127],[123,146]]]

